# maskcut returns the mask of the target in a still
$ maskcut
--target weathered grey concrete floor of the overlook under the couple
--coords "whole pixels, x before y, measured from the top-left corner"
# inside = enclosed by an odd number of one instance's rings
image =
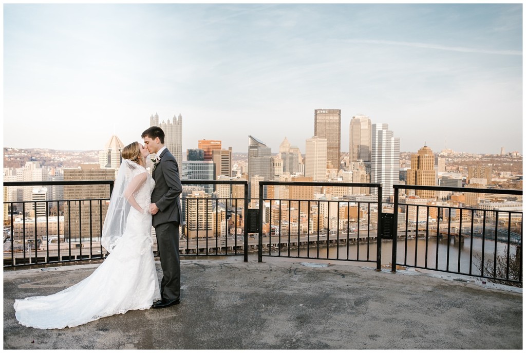
[[[3,348],[522,349],[522,289],[314,261],[184,258],[180,305],[62,330],[18,324],[14,299],[56,293],[98,264],[4,270]]]

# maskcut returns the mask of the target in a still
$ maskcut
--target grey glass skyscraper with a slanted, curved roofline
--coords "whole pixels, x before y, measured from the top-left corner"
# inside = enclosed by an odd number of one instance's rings
[[[274,180],[270,147],[255,137],[248,136],[248,182],[251,193],[252,177],[260,176],[265,181]],[[264,195],[266,197],[266,195]],[[259,195],[250,195],[259,197]]]

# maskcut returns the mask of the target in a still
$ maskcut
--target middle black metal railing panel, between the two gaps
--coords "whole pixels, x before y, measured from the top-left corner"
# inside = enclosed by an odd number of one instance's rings
[[[357,201],[356,222],[351,222],[351,202],[342,200],[319,200],[310,197],[301,199],[276,199],[264,197],[265,187],[367,187],[376,189],[375,201]],[[290,192],[290,189],[289,189]],[[310,193],[313,194],[313,193]],[[265,201],[268,201],[268,220],[264,220]],[[371,204],[376,205],[378,218],[371,222]],[[340,206],[347,206],[347,217],[340,217]],[[363,205],[367,207],[367,218],[360,217]],[[285,206],[285,207],[282,207]],[[294,209],[297,206],[297,209]],[[331,207],[336,209],[336,216],[330,217]],[[277,220],[272,218],[272,209],[278,212]],[[304,210],[304,219],[301,220],[301,209]],[[321,212],[323,208],[323,212]],[[282,217],[282,209],[285,209],[286,217]],[[294,209],[296,222],[291,222],[292,210]],[[259,253],[258,260],[263,256],[294,257],[306,259],[348,260],[365,261],[381,266],[381,238],[382,226],[380,220],[382,209],[382,186],[380,184],[362,183],[318,183],[318,182],[279,182],[261,181],[259,183]],[[343,218],[343,219],[341,219]],[[355,224],[353,227],[351,224]],[[363,224],[365,223],[365,227]],[[283,225],[286,225],[285,231]],[[291,225],[296,224],[291,230]],[[343,226],[342,226],[343,225]],[[265,231],[264,231],[265,228]],[[266,229],[268,228],[268,230]],[[351,253],[350,244],[366,244],[365,251],[360,254],[360,246]],[[375,243],[376,248],[371,251],[370,245]],[[345,245],[341,249],[341,244]],[[333,246],[336,245],[336,246]],[[340,249],[342,253],[340,254]],[[265,250],[265,255],[264,255]],[[365,252],[365,254],[363,254]],[[343,255],[343,256],[341,256]]]

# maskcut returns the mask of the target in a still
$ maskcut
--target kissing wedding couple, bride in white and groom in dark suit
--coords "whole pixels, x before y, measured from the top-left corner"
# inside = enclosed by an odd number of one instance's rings
[[[128,310],[179,304],[179,167],[157,126],[146,129],[144,145],[122,149],[122,162],[104,220],[102,246],[109,255],[79,283],[49,296],[15,300],[16,319],[40,329],[75,327]],[[155,154],[150,176],[146,159]],[[163,278],[157,277],[151,246],[155,228]]]

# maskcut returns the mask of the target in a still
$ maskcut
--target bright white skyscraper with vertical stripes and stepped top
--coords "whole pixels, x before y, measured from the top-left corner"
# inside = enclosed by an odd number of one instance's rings
[[[388,130],[388,124],[372,124],[371,183],[382,184],[382,198],[395,194],[393,184],[400,182],[400,138]],[[377,188],[371,194],[378,195]]]

